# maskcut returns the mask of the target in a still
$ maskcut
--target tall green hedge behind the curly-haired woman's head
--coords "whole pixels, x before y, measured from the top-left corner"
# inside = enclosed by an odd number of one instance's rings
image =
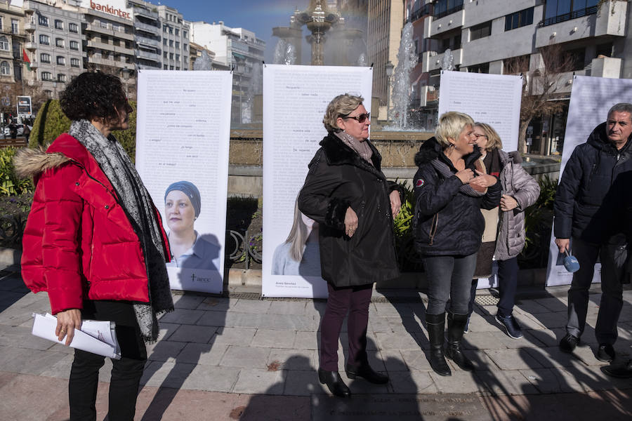
[[[136,102],[129,103],[134,109],[134,112],[129,115],[129,129],[114,131],[112,134],[121,142],[133,162],[136,157]],[[62,112],[59,101],[48,100],[39,110],[37,119],[33,123],[29,147],[46,146],[69,129],[70,119]]]

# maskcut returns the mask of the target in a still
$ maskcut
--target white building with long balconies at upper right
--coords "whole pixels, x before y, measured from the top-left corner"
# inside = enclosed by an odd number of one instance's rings
[[[461,72],[544,74],[551,58],[543,48],[558,46],[572,58],[558,74],[557,100],[568,101],[572,76],[632,78],[630,5],[627,1],[426,0],[430,17],[423,19],[420,107],[436,121],[439,74],[444,67]],[[527,88],[529,88],[527,86]],[[528,152],[561,154],[566,114],[534,119]]]

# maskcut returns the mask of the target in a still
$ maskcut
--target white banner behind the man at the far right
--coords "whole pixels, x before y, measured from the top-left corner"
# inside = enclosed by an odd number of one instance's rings
[[[586,142],[595,127],[606,121],[610,107],[619,102],[631,102],[631,99],[631,79],[573,76],[573,89],[568,106],[564,149],[562,149],[560,180],[564,167],[575,147]],[[567,285],[571,283],[573,274],[565,270],[562,263],[563,258],[564,256],[560,255],[558,251],[558,246],[555,246],[555,236],[553,236],[552,230],[551,241],[549,243],[548,265],[546,267],[546,286]],[[593,282],[601,281],[600,273],[601,265],[598,263],[595,265]]]

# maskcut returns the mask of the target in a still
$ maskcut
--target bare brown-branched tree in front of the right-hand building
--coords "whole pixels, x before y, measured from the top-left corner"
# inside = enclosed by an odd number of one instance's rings
[[[518,151],[525,152],[527,127],[532,119],[550,116],[562,111],[564,104],[556,101],[565,88],[565,72],[571,72],[574,58],[565,53],[559,44],[538,48],[541,64],[529,69],[529,55],[507,60],[505,73],[522,73],[522,103],[520,105],[520,131]]]

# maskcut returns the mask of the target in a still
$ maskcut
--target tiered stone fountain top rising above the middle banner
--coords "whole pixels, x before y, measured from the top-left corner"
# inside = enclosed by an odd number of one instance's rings
[[[306,26],[311,32],[310,35],[305,36],[305,39],[312,47],[311,65],[315,66],[325,64],[324,45],[328,33],[331,36],[331,44],[334,45],[334,59],[329,61],[334,61],[332,63],[334,65],[348,65],[346,50],[356,39],[362,38],[360,29],[345,28],[345,20],[339,13],[329,11],[326,0],[310,0],[305,11],[298,11],[298,8],[294,11],[294,15],[290,18],[289,27],[272,28],[272,35],[279,37],[277,50],[275,50],[275,63],[300,64],[297,61],[301,60],[303,26]],[[344,51],[339,51],[341,49]],[[295,59],[291,60],[288,55],[279,54],[277,61],[277,51],[285,51],[287,54],[294,53]]]

